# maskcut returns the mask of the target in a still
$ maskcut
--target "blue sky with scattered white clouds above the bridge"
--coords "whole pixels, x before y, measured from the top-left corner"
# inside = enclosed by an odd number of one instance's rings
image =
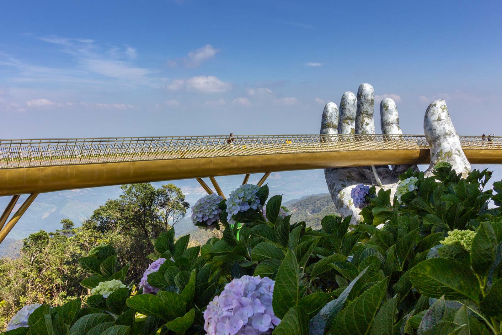
[[[0,138],[312,134],[324,103],[362,82],[376,103],[396,100],[405,133],[423,134],[427,105],[445,98],[458,133],[502,135],[501,12],[458,1],[3,2]]]

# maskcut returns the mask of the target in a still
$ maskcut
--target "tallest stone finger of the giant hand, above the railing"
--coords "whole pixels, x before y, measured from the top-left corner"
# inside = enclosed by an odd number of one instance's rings
[[[355,115],[356,134],[374,134],[373,120],[374,91],[373,86],[364,83],[357,90],[357,113]]]

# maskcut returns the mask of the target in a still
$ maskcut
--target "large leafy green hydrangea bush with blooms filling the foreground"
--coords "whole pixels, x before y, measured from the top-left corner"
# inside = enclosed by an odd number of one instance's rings
[[[89,274],[81,285],[96,293],[84,305],[41,305],[30,327],[7,333],[499,335],[502,210],[488,203],[502,200],[502,182],[493,194],[486,170],[465,179],[447,165],[433,173],[408,170],[400,179],[414,189],[401,202],[381,189],[358,225],[327,215],[319,230],[283,216],[282,196],[269,199],[267,185],[239,187],[221,207],[221,239],[188,247],[190,237],[171,229],[152,240],[139,291],[130,283],[103,297],[100,283],[125,283],[129,266],[102,246],[79,260]],[[239,239],[225,224],[237,202]]]

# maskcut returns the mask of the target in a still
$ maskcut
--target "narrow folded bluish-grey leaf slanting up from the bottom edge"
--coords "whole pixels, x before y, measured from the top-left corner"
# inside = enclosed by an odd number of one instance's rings
[[[338,315],[340,310],[345,306],[345,301],[347,300],[350,292],[356,285],[356,283],[365,276],[366,270],[362,271],[357,277],[350,282],[350,284],[340,293],[337,299],[328,302],[324,307],[321,308],[319,313],[316,314],[309,324],[310,335],[323,335],[329,329],[331,329],[331,324],[333,320]]]

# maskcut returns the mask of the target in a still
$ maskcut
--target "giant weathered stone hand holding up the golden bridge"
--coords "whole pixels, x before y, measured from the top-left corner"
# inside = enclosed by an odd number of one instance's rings
[[[345,92],[340,101],[340,109],[333,102],[324,107],[321,119],[321,135],[337,134],[374,134],[373,86],[364,83],[357,90],[357,97],[352,92]],[[380,128],[385,135],[403,134],[399,126],[398,108],[391,98],[380,103]],[[432,175],[434,166],[445,161],[452,165],[457,173],[465,177],[470,172],[470,164],[460,146],[458,134],[453,128],[448,108],[444,100],[432,102],[425,113],[424,132],[431,150],[431,163],[426,176]],[[383,188],[391,190],[394,196],[399,175],[408,168],[418,170],[416,165],[368,166],[351,168],[324,169],[324,175],[331,198],[340,215],[352,215],[351,224],[357,224],[360,209],[356,208],[350,197],[350,191],[358,184],[375,185],[376,191]]]

